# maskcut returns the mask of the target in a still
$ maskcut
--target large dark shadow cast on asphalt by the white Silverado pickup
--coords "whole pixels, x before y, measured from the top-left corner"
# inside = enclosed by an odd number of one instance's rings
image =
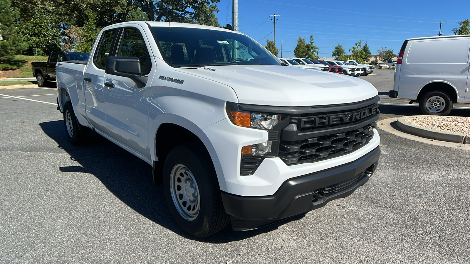
[[[152,167],[149,164],[95,132],[92,132],[90,144],[71,145],[65,135],[62,120],[40,123],[39,126],[47,136],[57,142],[58,148],[65,150],[72,160],[81,165],[60,167],[60,171],[93,174],[127,206],[182,237],[208,243],[239,241],[270,232],[280,225],[305,217],[305,214],[301,214],[273,225],[245,232],[235,232],[229,224],[227,228],[208,238],[192,237],[180,229],[172,219],[166,205],[163,187],[153,184]]]

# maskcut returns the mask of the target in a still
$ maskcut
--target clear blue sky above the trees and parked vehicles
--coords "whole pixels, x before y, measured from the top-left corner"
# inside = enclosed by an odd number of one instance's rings
[[[276,23],[276,46],[284,57],[293,56],[298,36],[313,35],[320,57],[331,57],[337,43],[346,52],[362,39],[372,54],[381,47],[398,54],[405,39],[452,35],[457,22],[470,19],[470,1],[316,1],[239,0],[240,31],[266,45],[273,39],[269,15],[281,15]],[[232,23],[232,0],[220,0],[216,14],[221,25]],[[281,52],[279,52],[281,56]]]

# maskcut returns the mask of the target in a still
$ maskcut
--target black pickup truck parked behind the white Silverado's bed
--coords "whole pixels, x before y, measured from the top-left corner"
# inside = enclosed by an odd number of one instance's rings
[[[90,54],[81,52],[52,52],[47,62],[31,62],[32,75],[36,77],[38,86],[46,81],[55,80],[55,63],[69,61],[87,61]]]

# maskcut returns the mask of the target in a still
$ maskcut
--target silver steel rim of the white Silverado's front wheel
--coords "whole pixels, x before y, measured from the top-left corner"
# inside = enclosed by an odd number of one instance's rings
[[[170,192],[173,204],[181,217],[188,221],[196,219],[199,215],[201,199],[196,179],[183,164],[173,167],[170,174]]]

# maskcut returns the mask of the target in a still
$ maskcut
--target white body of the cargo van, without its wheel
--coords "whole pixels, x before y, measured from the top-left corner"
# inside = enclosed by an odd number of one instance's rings
[[[455,87],[457,101],[463,102],[469,51],[470,37],[409,40],[401,67],[396,71],[399,74],[399,89],[396,89],[399,98],[416,100],[424,85],[444,82]]]

